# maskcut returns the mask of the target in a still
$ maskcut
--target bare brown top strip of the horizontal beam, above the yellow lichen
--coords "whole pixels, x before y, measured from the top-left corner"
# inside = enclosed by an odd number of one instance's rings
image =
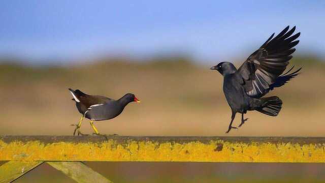
[[[223,140],[227,142],[270,142],[270,143],[324,143],[325,137],[209,137],[209,136],[108,136],[109,139],[115,140],[118,143],[124,143],[130,140],[135,141],[155,141],[155,142],[178,142],[186,143],[192,141],[210,142],[211,140]],[[40,141],[43,143],[55,143],[55,142],[105,142],[105,138],[101,136],[12,136],[12,135],[0,135],[0,140],[9,143],[13,141]]]

